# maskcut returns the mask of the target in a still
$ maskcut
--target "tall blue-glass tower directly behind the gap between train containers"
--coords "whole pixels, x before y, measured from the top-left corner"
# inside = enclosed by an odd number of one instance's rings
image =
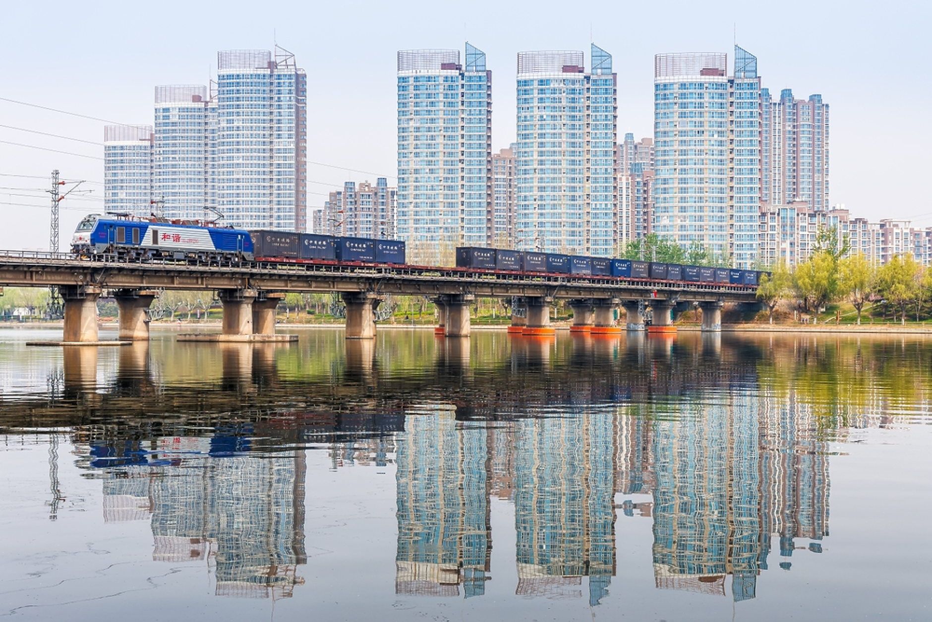
[[[468,43],[465,66],[456,49],[398,52],[396,226],[416,257],[492,243],[491,82]]]

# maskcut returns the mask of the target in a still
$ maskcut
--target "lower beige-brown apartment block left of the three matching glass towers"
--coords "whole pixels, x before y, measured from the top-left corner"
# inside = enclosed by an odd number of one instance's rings
[[[346,182],[323,205],[320,230],[326,235],[392,239],[395,235],[395,188],[385,177],[376,185]]]

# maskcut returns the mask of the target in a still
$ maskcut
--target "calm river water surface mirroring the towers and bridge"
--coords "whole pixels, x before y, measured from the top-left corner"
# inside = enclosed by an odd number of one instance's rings
[[[0,329],[0,616],[932,619],[932,339],[295,332]]]

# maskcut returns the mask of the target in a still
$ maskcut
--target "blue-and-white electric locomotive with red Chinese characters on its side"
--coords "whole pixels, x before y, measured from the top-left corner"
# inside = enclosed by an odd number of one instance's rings
[[[75,229],[71,249],[78,256],[116,255],[121,259],[254,259],[249,231],[206,227],[178,221],[85,217]]]

